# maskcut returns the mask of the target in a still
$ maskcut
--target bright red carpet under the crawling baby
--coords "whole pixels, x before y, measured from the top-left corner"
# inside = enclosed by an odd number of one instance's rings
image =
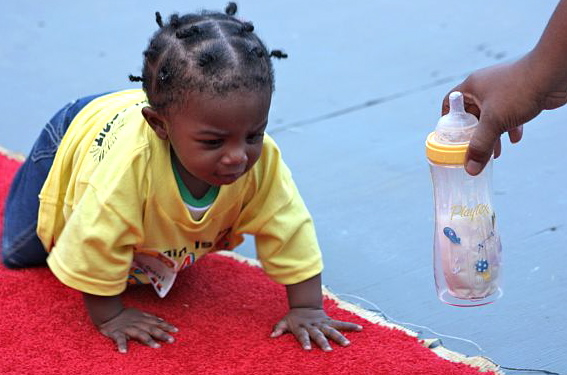
[[[0,155],[0,212],[18,162]],[[0,215],[1,220],[1,215]],[[7,374],[479,374],[440,358],[408,333],[370,323],[328,298],[329,315],[364,326],[352,345],[304,352],[291,337],[269,337],[286,312],[284,287],[260,269],[215,254],[177,279],[165,299],[130,289],[126,303],[179,328],[176,342],[119,354],[91,325],[78,292],[48,269],[0,266],[0,373]],[[342,305],[341,305],[342,306]],[[492,373],[492,372],[490,372]],[[483,372],[483,374],[487,374]]]

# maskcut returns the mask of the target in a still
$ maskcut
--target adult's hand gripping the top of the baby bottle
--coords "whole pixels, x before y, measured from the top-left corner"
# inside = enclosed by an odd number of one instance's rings
[[[522,139],[522,125],[544,109],[554,109],[567,102],[565,92],[542,87],[534,77],[530,55],[510,64],[494,65],[472,73],[453,91],[463,93],[465,109],[479,118],[465,157],[465,168],[479,174],[494,153],[501,153],[500,136],[508,132],[512,143]],[[443,100],[443,114],[449,111],[448,95]]]

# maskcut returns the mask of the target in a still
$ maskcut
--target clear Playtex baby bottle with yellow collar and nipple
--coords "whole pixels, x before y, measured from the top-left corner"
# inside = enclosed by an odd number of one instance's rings
[[[449,95],[449,106],[426,141],[435,200],[435,285],[445,303],[479,306],[502,295],[492,160],[477,176],[465,171],[465,153],[478,120],[465,112],[460,92]]]

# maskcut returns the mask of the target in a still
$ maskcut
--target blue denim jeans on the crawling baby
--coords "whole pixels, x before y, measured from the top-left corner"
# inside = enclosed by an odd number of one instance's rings
[[[47,252],[36,233],[39,192],[69,124],[83,107],[99,96],[78,99],[57,112],[45,125],[28,158],[18,169],[4,210],[2,261],[6,267],[45,265]]]

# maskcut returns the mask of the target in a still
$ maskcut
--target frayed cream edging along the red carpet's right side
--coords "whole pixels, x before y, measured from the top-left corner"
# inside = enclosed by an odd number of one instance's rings
[[[260,262],[258,262],[258,260],[245,257],[244,255],[238,254],[234,251],[219,251],[218,253],[220,255],[227,256],[229,258],[232,258],[232,259],[238,260],[240,262],[249,264],[251,266],[261,267]],[[325,297],[335,301],[337,303],[337,305],[339,306],[339,308],[346,310],[346,311],[350,311],[353,314],[356,314],[356,315],[360,316],[361,318],[363,318],[363,319],[365,319],[365,320],[367,320],[371,323],[379,324],[379,325],[389,327],[389,328],[398,329],[398,330],[401,330],[401,331],[407,333],[408,335],[410,335],[412,337],[416,337],[416,338],[418,337],[418,333],[415,332],[415,331],[412,331],[409,328],[406,328],[406,327],[400,326],[398,324],[392,323],[392,322],[386,320],[383,316],[381,316],[378,313],[366,310],[366,309],[364,309],[360,306],[357,306],[355,304],[352,304],[350,302],[346,302],[346,301],[340,299],[339,297],[337,297],[335,294],[333,294],[325,286],[323,286],[323,295]],[[444,346],[442,346],[441,340],[439,340],[439,339],[420,339],[419,342],[423,346],[425,346],[426,348],[428,348],[429,350],[431,350],[432,352],[437,354],[439,357],[446,359],[448,361],[464,363],[464,364],[476,367],[480,371],[486,371],[486,372],[492,371],[496,374],[505,375],[505,373],[502,371],[502,369],[500,368],[500,366],[498,364],[494,363],[493,361],[491,361],[490,359],[488,359],[486,357],[482,357],[482,356],[469,357],[469,356],[466,356],[464,354],[454,352],[454,351],[449,350],[449,349],[445,348]]]

